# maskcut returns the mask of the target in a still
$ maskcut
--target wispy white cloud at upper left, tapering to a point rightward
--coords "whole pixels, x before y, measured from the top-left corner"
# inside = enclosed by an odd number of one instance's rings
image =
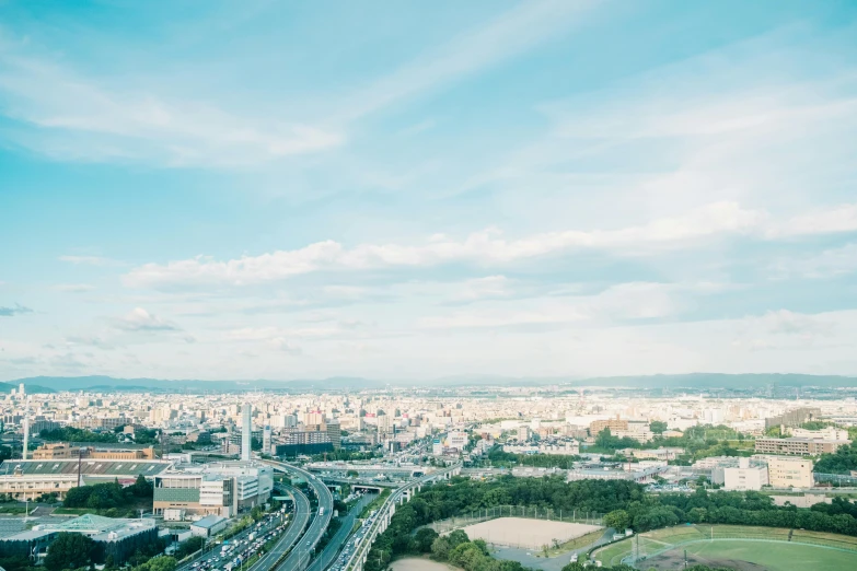
[[[4,136],[55,159],[235,166],[323,151],[344,140],[320,127],[235,115],[205,101],[128,92],[20,54],[27,47],[8,43],[0,51],[0,102],[4,115],[35,129],[10,128]]]

